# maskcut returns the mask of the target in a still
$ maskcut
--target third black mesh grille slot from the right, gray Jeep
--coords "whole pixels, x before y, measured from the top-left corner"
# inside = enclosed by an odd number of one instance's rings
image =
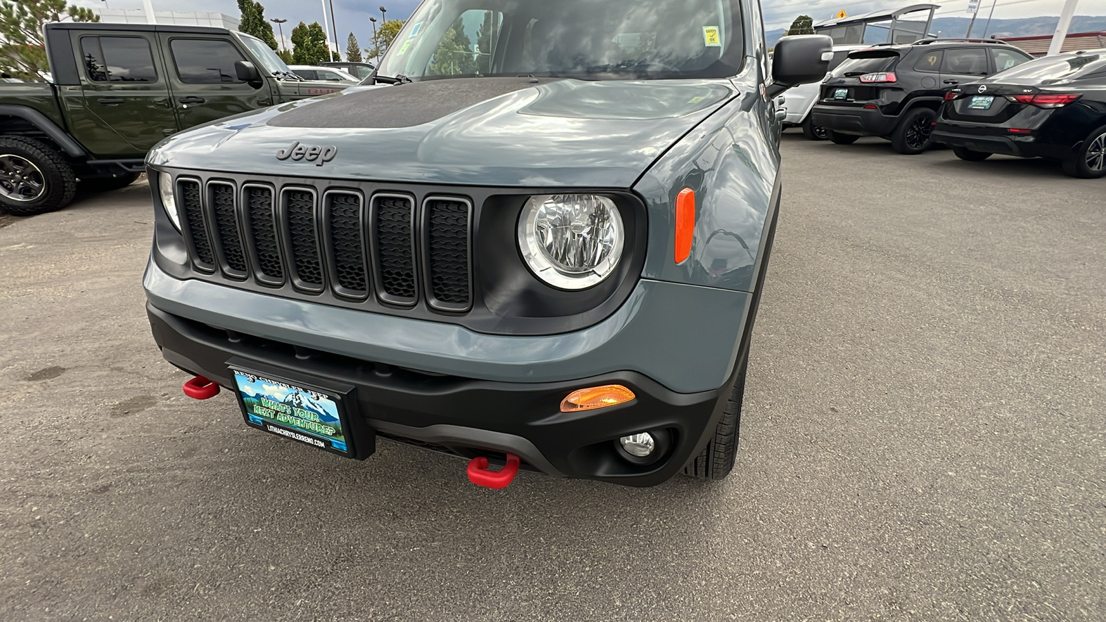
[[[325,203],[334,290],[343,296],[364,298],[368,296],[368,266],[361,196],[332,193],[326,195]]]

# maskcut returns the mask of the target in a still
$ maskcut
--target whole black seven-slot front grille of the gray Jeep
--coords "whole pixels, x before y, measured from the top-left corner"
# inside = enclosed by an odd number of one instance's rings
[[[180,177],[180,216],[196,270],[300,294],[467,312],[472,204],[460,197],[280,187]],[[421,209],[419,209],[421,207]]]

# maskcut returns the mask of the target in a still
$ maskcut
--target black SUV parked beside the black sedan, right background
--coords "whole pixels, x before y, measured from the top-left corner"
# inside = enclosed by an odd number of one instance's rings
[[[943,92],[1031,60],[1001,41],[928,39],[849,52],[822,84],[814,125],[838,145],[880,136],[900,154],[929,148]]]

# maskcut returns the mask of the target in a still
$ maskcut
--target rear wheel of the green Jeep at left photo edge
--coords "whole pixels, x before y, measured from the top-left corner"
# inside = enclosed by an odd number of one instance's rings
[[[62,155],[34,138],[0,138],[0,206],[14,216],[61,209],[76,195],[73,169]]]

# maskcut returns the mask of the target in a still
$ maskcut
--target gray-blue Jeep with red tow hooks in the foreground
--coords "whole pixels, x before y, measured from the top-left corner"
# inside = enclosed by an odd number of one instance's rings
[[[830,51],[784,38],[770,75],[758,0],[426,0],[362,85],[149,153],[157,345],[188,395],[341,456],[722,478],[773,100]]]

